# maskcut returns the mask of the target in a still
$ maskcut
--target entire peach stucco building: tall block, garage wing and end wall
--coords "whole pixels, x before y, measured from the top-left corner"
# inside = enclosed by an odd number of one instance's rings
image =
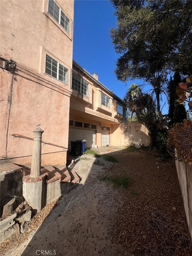
[[[31,164],[36,124],[47,142],[41,165],[65,164],[74,140],[87,140],[86,148],[149,145],[146,128],[127,122],[124,102],[73,61],[73,5],[0,2],[1,163]]]

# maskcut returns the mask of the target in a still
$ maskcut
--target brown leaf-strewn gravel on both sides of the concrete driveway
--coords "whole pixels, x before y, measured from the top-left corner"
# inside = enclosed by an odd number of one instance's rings
[[[103,170],[114,176],[129,176],[131,187],[118,191],[123,202],[110,231],[113,243],[119,245],[113,255],[192,255],[175,164],[145,152],[123,151],[115,157],[119,163],[105,164]],[[0,245],[1,255],[25,241],[57,205],[56,201],[32,218],[25,234],[5,240]],[[108,256],[106,253],[100,252]]]

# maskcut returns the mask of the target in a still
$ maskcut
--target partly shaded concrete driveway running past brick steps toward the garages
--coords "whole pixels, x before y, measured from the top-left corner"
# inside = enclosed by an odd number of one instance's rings
[[[121,153],[119,147],[94,149],[100,154]],[[82,159],[84,158],[84,159]],[[81,160],[80,160],[81,159]],[[70,166],[81,177],[80,184],[61,196],[50,215],[29,238],[4,255],[115,255],[118,245],[111,232],[117,209],[121,205],[118,190],[100,180],[105,166],[94,164],[92,155],[82,155]]]

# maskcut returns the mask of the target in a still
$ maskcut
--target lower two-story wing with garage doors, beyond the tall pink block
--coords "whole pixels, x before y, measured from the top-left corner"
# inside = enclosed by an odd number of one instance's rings
[[[87,140],[86,148],[120,145],[113,130],[127,120],[124,101],[75,61],[71,88],[68,148],[80,139]]]

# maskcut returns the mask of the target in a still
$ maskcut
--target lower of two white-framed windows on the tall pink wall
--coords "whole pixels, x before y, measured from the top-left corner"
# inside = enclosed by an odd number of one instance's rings
[[[68,69],[46,54],[45,73],[68,84]]]

